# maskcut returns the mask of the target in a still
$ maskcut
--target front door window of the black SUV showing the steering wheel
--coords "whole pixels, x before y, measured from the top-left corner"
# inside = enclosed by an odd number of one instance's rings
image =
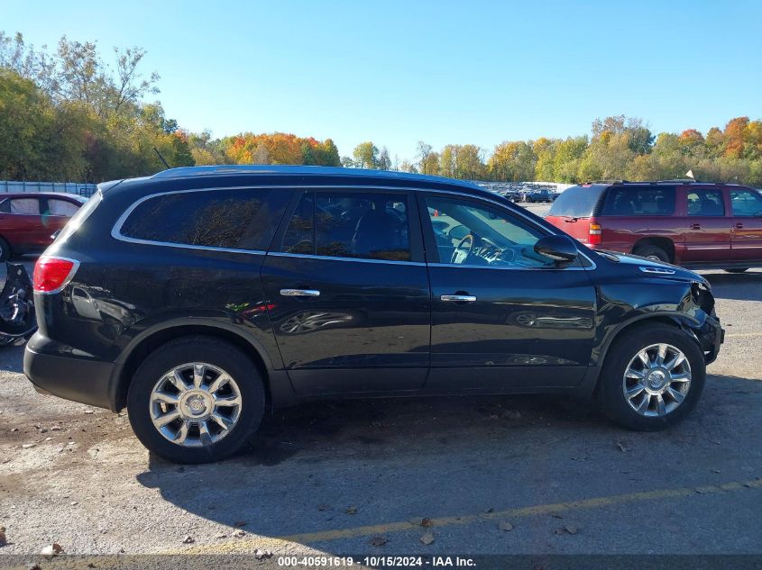
[[[485,267],[553,265],[534,250],[544,234],[496,208],[435,197],[428,197],[426,205],[440,263]]]

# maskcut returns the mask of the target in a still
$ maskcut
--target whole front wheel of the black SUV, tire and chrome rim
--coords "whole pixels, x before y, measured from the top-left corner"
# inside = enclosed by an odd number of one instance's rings
[[[644,325],[614,341],[599,396],[612,421],[630,430],[662,430],[693,410],[705,378],[693,339],[675,327]]]

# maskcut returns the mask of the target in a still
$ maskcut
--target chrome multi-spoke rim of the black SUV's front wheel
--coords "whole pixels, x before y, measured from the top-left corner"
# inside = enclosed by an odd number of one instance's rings
[[[666,416],[683,403],[691,388],[691,364],[679,348],[652,344],[629,361],[622,390],[641,416]]]

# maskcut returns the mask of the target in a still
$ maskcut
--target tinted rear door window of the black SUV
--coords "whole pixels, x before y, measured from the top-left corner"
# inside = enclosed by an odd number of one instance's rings
[[[407,196],[306,193],[291,217],[281,250],[333,258],[409,261]]]

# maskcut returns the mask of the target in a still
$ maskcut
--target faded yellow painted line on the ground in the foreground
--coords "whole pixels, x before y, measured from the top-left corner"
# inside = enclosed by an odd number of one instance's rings
[[[660,499],[679,499],[693,495],[731,493],[734,491],[743,491],[747,489],[758,488],[762,488],[762,479],[754,479],[751,481],[732,481],[725,484],[705,485],[700,487],[684,487],[680,489],[644,491],[641,493],[625,493],[605,497],[593,497],[591,499],[581,499],[579,501],[554,502],[550,504],[518,507],[507,509],[505,511],[493,511],[489,513],[484,512],[480,514],[471,514],[460,517],[440,517],[438,519],[432,519],[431,522],[432,526],[435,529],[441,527],[465,526],[482,520],[515,520],[522,517],[550,514],[551,512],[583,511],[589,509],[597,509],[600,507],[611,507],[628,504],[631,502],[657,501]],[[349,529],[332,529],[318,530],[316,532],[304,532],[279,538],[244,537],[242,539],[227,541],[219,544],[197,545],[195,547],[179,548],[176,550],[166,551],[162,554],[233,554],[236,552],[252,552],[254,548],[272,549],[272,547],[286,546],[287,544],[294,542],[298,544],[309,545],[316,542],[329,542],[332,540],[340,540],[342,538],[385,535],[413,529],[422,530],[418,525],[410,522],[409,520],[401,520],[362,527],[353,527]]]

